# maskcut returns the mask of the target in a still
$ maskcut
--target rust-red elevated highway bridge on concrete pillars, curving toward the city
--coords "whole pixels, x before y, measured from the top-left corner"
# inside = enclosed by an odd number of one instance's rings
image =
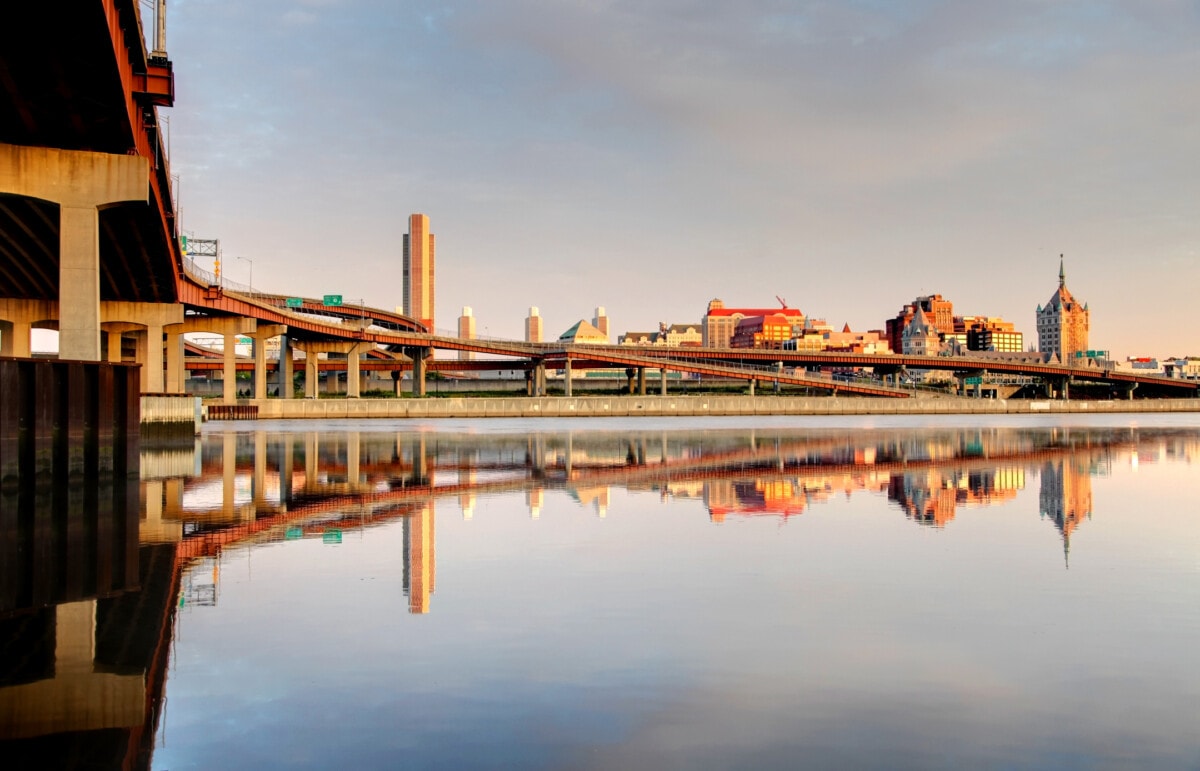
[[[428,371],[524,370],[532,395],[545,395],[547,370],[624,369],[646,392],[647,371],[770,382],[839,394],[908,398],[898,375],[952,371],[960,379],[1036,377],[1068,396],[1068,383],[1108,383],[1130,398],[1194,395],[1198,383],[1102,366],[967,357],[905,357],[786,351],[659,348],[466,340],[432,334],[416,319],[365,305],[330,307],[316,298],[289,303],[208,275],[180,244],[178,208],[158,109],[174,104],[164,25],[148,49],[138,0],[89,0],[65,13],[22,4],[0,13],[0,355],[31,355],[32,329],[59,331],[59,357],[136,361],[140,389],[182,394],[186,372],[215,369],[187,357],[185,335],[222,336],[223,400],[238,399],[236,372],[254,372],[253,396],[266,398],[266,372],[290,383],[305,369],[305,395],[317,396],[322,370],[342,369],[347,395],[360,395],[360,371],[410,372],[413,395]],[[54,30],[54,44],[29,34]],[[239,360],[236,340],[254,341]],[[280,340],[270,366],[265,342]],[[301,352],[298,355],[295,352]],[[480,354],[450,363],[434,352]],[[194,352],[194,349],[193,349]],[[324,358],[323,358],[324,357]],[[365,358],[366,357],[366,358]],[[838,379],[814,369],[865,367],[881,377]],[[890,381],[890,382],[888,382]],[[632,389],[631,389],[632,390]],[[290,388],[280,395],[292,396]]]

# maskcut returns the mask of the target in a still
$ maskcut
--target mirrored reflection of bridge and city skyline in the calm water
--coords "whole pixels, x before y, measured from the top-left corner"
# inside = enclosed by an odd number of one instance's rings
[[[1200,458],[1200,442],[1094,429],[256,431],[145,452],[140,482],[0,496],[0,751],[18,766],[148,766],[175,612],[199,597],[181,576],[226,548],[400,521],[409,610],[426,612],[439,501],[472,516],[479,496],[523,492],[536,516],[558,491],[604,513],[624,488],[696,498],[721,522],[868,492],[943,527],[1033,474],[1066,548],[1091,516],[1091,478],[1135,454]]]

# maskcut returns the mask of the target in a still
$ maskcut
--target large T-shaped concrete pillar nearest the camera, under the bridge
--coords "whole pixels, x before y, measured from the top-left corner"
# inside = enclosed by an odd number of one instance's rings
[[[59,358],[100,360],[100,208],[145,202],[137,155],[0,144],[0,193],[59,204]]]

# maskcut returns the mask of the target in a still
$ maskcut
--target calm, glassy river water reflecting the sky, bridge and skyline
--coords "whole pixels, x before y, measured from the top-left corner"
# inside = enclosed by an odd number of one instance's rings
[[[0,751],[1195,769],[1198,461],[1200,416],[208,424],[137,581],[5,579]]]

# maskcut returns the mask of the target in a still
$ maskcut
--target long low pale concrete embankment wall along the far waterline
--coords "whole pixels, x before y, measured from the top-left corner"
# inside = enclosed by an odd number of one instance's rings
[[[594,418],[665,416],[1046,414],[1200,412],[1200,399],[1034,401],[994,399],[847,399],[838,396],[545,396],[451,399],[262,399],[259,419]]]

